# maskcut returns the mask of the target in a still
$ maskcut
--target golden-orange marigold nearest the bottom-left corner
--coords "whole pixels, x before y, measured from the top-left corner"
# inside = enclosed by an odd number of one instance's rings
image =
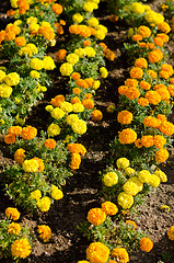
[[[25,259],[32,252],[31,244],[27,239],[15,240],[11,245],[12,256]]]

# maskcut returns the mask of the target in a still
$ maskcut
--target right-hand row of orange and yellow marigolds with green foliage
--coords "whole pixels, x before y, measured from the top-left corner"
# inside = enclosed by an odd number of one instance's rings
[[[162,14],[140,2],[125,5],[121,1],[109,1],[108,4],[128,24],[139,26],[129,28],[129,43],[125,44],[134,66],[130,78],[118,88],[117,122],[121,130],[111,145],[112,165],[101,172],[101,194],[106,202],[101,208],[90,209],[88,221],[80,226],[94,242],[86,249],[86,260],[78,263],[129,262],[127,251],[152,250],[152,240],[130,219],[148,193],[167,181],[158,165],[167,160],[166,148],[174,134],[174,125],[166,118],[172,113],[174,96],[174,70],[167,64],[165,49],[170,24]],[[167,237],[174,240],[174,226]]]

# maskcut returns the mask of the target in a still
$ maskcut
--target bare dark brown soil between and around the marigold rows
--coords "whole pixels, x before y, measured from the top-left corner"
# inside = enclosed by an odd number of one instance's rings
[[[151,2],[153,7],[154,2]],[[155,4],[154,4],[155,7]],[[9,1],[3,1],[0,7],[0,25],[4,28],[9,23],[9,19],[4,12],[10,9]],[[76,263],[79,260],[85,260],[85,250],[90,241],[84,238],[77,226],[83,222],[90,208],[98,207],[103,202],[98,197],[100,178],[98,172],[106,168],[106,160],[109,159],[109,142],[117,135],[118,126],[115,122],[115,114],[106,112],[109,104],[117,104],[117,88],[124,83],[128,77],[127,57],[123,53],[124,42],[126,41],[128,27],[120,22],[112,24],[108,21],[109,13],[106,11],[104,2],[100,4],[100,11],[96,11],[96,18],[100,22],[107,26],[108,34],[105,44],[115,53],[114,61],[106,61],[106,68],[109,71],[107,79],[103,80],[101,88],[95,95],[95,105],[103,112],[103,121],[100,123],[88,122],[88,133],[81,137],[80,142],[83,144],[88,153],[82,159],[80,169],[74,175],[67,180],[67,184],[62,191],[65,197],[55,202],[46,214],[31,216],[22,213],[22,224],[27,224],[35,232],[38,224],[44,222],[51,228],[53,238],[48,243],[43,243],[38,239],[34,241],[31,256],[20,262],[33,263]],[[174,53],[174,39],[169,44],[169,50]],[[57,50],[59,47],[57,47]],[[53,55],[54,56],[54,55]],[[172,57],[172,56],[171,56]],[[170,60],[172,64],[173,61]],[[174,66],[174,62],[173,62]],[[56,73],[54,75],[56,76]],[[57,87],[62,87],[65,79],[58,78]],[[61,92],[54,89],[51,96]],[[43,102],[39,102],[33,108],[32,114],[26,119],[27,124],[42,128],[45,125],[43,114],[45,114],[45,105],[50,100],[50,93],[46,94]],[[171,116],[172,119],[172,116]],[[5,169],[7,163],[12,163],[8,149],[3,141],[0,142],[0,172]],[[130,255],[130,263],[158,263],[160,260],[164,263],[174,262],[173,242],[167,239],[166,231],[174,225],[174,156],[173,148],[171,150],[170,160],[161,169],[167,174],[167,183],[161,184],[158,190],[148,196],[146,206],[139,207],[137,214],[132,215],[137,225],[146,232],[154,242],[154,248],[150,253],[141,251]],[[4,209],[12,205],[1,193],[0,215],[4,214]],[[171,207],[170,213],[161,211],[162,205]],[[20,209],[20,208],[19,208]],[[11,263],[13,261],[2,261]],[[160,263],[160,262],[159,262]]]

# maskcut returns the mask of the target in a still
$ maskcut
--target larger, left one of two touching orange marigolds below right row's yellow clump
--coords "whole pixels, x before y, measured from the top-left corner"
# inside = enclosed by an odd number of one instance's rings
[[[92,208],[88,213],[86,219],[94,226],[98,226],[106,220],[106,213],[101,208]]]

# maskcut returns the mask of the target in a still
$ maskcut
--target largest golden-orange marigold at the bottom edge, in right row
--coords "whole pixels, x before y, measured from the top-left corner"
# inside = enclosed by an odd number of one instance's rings
[[[90,263],[106,263],[109,256],[109,249],[101,242],[93,242],[86,249],[86,260]]]

